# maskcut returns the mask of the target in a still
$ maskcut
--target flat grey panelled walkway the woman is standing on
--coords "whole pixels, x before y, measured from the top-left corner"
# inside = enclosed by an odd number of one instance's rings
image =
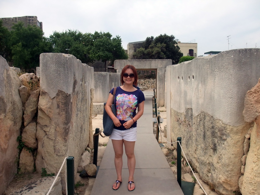
[[[114,165],[114,150],[109,139],[103,155],[95,183],[90,195],[96,194],[178,194],[182,190],[153,134],[152,97],[153,92],[144,92],[144,114],[137,122],[137,141],[135,143],[135,190],[129,192],[127,157],[123,155],[122,184],[118,190],[112,185],[117,176]]]

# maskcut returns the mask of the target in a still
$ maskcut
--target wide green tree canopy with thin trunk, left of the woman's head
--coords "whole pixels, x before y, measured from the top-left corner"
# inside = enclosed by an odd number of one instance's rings
[[[74,55],[82,63],[91,63],[95,60],[107,61],[127,59],[128,56],[122,48],[120,36],[112,38],[112,35],[95,31],[94,34],[82,34],[77,30],[68,30],[62,33],[54,31],[50,35],[54,53]]]

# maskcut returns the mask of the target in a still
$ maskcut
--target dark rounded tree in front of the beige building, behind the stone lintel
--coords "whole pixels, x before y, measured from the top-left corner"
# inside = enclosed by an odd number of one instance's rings
[[[173,35],[159,35],[147,37],[143,47],[136,50],[135,59],[171,59],[172,64],[177,64],[183,54]]]

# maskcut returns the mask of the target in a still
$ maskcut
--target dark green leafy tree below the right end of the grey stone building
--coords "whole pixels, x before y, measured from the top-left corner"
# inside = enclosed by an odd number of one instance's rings
[[[14,66],[26,70],[39,66],[40,54],[52,50],[51,44],[43,37],[43,31],[36,25],[25,28],[22,22],[12,29],[9,43]]]

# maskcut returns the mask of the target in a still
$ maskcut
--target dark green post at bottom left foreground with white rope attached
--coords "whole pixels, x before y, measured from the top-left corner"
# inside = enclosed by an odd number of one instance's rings
[[[67,158],[67,183],[68,195],[75,194],[75,181],[74,181],[74,157]]]

